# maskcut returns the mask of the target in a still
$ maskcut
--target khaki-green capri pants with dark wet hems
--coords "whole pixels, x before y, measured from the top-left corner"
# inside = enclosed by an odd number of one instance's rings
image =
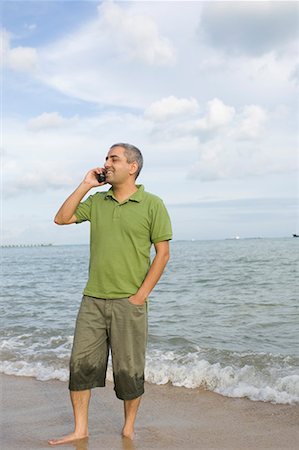
[[[114,390],[121,400],[144,393],[147,302],[84,295],[76,321],[70,360],[71,391],[104,387],[109,350]]]

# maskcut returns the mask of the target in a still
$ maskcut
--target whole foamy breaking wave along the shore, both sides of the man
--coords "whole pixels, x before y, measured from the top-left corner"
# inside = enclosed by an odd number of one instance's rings
[[[70,340],[69,338],[68,346]],[[38,359],[35,354],[34,359],[26,360],[18,359],[15,355],[0,364],[0,372],[34,377],[40,381],[67,381],[69,354],[65,345],[58,347],[63,348],[63,357],[57,353],[54,359],[48,355],[42,360],[43,355]],[[205,356],[208,356],[207,351]],[[261,363],[262,359],[264,364]],[[247,397],[254,401],[280,404],[299,403],[299,375],[290,358],[277,358],[269,354],[257,358],[257,355],[252,355],[250,364],[250,357],[247,355],[246,364],[242,365],[244,355],[239,355],[238,366],[236,352],[233,352],[233,363],[228,364],[227,360],[227,354],[222,361],[219,358],[219,362],[211,362],[202,358],[200,351],[178,354],[174,351],[151,349],[147,355],[145,379],[159,385],[171,383],[188,389],[206,389],[226,397]],[[110,361],[107,379],[113,380]]]

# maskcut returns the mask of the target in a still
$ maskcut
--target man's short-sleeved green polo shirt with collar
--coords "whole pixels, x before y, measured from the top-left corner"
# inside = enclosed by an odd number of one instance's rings
[[[84,294],[123,298],[137,292],[150,267],[151,245],[172,238],[163,201],[137,185],[119,203],[112,188],[97,192],[76,209],[77,223],[90,222],[89,278]]]

